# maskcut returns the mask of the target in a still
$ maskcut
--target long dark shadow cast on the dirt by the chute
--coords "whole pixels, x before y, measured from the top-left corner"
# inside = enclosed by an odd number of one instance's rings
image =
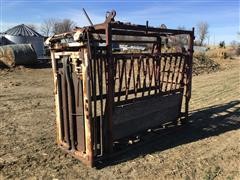
[[[217,136],[240,128],[240,101],[210,106],[191,112],[189,123],[151,132],[135,145],[125,145],[122,152],[99,161],[97,168],[119,164],[139,156],[174,148],[207,137]],[[132,146],[132,147],[131,147]]]

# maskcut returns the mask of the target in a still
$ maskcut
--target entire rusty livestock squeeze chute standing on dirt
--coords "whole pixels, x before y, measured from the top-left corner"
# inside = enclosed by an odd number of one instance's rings
[[[57,142],[89,166],[121,140],[188,119],[194,29],[115,21],[49,39]]]

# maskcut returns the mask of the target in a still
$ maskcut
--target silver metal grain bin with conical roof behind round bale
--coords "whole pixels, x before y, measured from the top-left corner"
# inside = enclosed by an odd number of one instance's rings
[[[38,57],[44,55],[44,37],[30,27],[21,24],[0,35],[0,45],[31,44]]]

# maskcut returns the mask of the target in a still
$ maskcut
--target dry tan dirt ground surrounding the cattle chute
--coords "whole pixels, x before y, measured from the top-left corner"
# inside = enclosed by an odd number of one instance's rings
[[[56,146],[50,68],[0,70],[0,179],[240,179],[240,60],[226,64],[193,77],[189,125],[100,169]]]

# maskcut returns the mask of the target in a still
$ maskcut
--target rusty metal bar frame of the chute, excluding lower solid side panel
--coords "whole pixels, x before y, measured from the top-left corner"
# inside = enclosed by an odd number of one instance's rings
[[[187,31],[149,27],[148,23],[124,24],[114,21],[115,15],[116,12],[112,11],[102,24],[76,28],[72,32],[55,35],[49,40],[54,76],[57,143],[62,149],[91,167],[98,159],[114,153],[113,145],[117,138],[113,135],[113,119],[117,106],[135,103],[139,99],[180,93],[184,97],[185,105],[182,112],[183,101],[180,99],[177,117],[182,123],[188,119],[194,28]],[[188,36],[188,50],[162,53],[162,38],[180,34]],[[157,40],[114,39],[116,35]],[[61,42],[68,37],[74,38],[74,42]],[[98,43],[105,45],[100,47]],[[117,54],[112,52],[113,43],[153,43],[153,49],[151,53]],[[68,59],[66,65],[62,63],[63,59]],[[65,66],[69,72],[64,70]],[[77,82],[82,84],[82,94],[79,94],[79,89],[71,94],[71,88],[70,90],[69,86],[65,88],[64,83],[69,85],[67,81],[73,78],[70,71],[76,74]],[[68,75],[65,75],[66,73]],[[75,82],[70,83],[76,86]],[[77,84],[77,88],[79,87]],[[77,103],[75,101],[79,101],[78,96],[82,98],[83,112],[80,115],[77,114],[77,107],[74,105]],[[97,115],[98,113],[100,115]],[[82,124],[79,125],[80,121]],[[80,126],[83,132],[78,129]],[[84,144],[80,149],[79,137]]]

